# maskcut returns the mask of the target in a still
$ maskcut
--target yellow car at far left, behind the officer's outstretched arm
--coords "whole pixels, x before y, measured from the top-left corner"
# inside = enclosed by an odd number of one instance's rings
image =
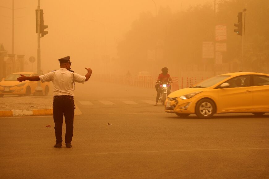
[[[19,83],[17,78],[20,77],[19,74],[25,76],[36,76],[33,72],[18,72],[8,75],[5,79],[0,82],[0,97],[4,95],[19,95],[19,96],[29,96],[35,92],[37,87],[37,81],[23,81]],[[49,83],[41,83],[44,95],[49,93]]]

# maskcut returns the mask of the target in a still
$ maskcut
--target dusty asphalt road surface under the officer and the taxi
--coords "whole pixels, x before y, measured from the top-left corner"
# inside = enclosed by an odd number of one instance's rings
[[[179,118],[155,93],[76,84],[72,148],[53,148],[52,116],[0,118],[0,178],[269,178],[269,113]]]

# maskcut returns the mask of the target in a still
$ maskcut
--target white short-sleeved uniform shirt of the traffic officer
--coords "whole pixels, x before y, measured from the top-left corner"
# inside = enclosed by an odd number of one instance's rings
[[[78,83],[84,83],[86,77],[77,73],[72,73],[66,68],[60,68],[59,70],[49,72],[45,75],[39,76],[41,82],[52,81],[54,90],[53,96],[74,94],[74,81]]]

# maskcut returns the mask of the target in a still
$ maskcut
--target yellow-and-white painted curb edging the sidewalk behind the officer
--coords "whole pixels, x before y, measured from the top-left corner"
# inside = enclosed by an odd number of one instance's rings
[[[75,116],[81,115],[82,112],[77,107],[76,103]],[[1,111],[0,117],[13,117],[13,116],[45,116],[45,115],[53,115],[53,108],[50,109],[26,109],[26,110],[8,110]]]

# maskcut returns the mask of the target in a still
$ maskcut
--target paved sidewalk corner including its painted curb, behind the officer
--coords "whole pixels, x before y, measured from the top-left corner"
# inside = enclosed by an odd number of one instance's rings
[[[0,98],[0,117],[52,115],[52,103],[53,96],[5,95]],[[82,114],[75,106],[75,115]]]

